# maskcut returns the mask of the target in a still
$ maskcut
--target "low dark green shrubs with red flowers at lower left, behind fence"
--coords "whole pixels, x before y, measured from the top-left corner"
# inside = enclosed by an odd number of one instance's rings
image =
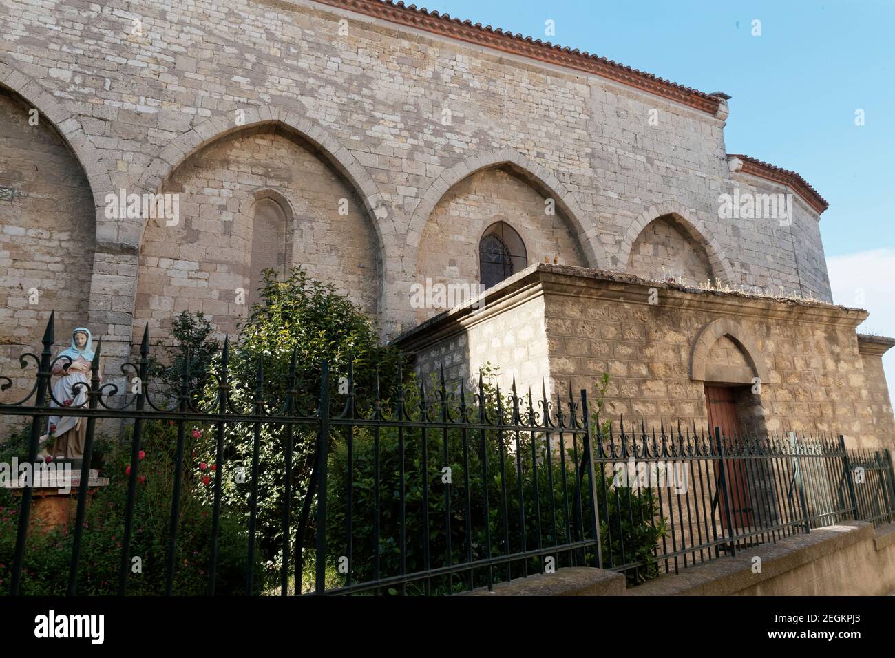
[[[211,510],[203,505],[200,491],[208,468],[200,469],[195,444],[199,438],[187,433],[184,449],[183,487],[180,498],[175,551],[175,594],[206,594],[208,591]],[[141,559],[141,572],[130,573],[128,594],[165,594],[168,528],[175,474],[176,428],[168,423],[144,425],[141,445],[145,458],[138,466],[131,556]],[[90,501],[81,540],[78,594],[116,594],[124,536],[130,465],[130,441],[108,457],[110,484]],[[6,593],[13,567],[18,525],[18,500],[12,507],[0,505],[0,592]],[[68,586],[72,532],[31,532],[22,568],[21,593],[59,595]],[[222,513],[218,534],[216,594],[243,594],[248,550],[248,532],[231,514]],[[256,552],[256,556],[258,553]],[[133,562],[132,562],[133,564]],[[255,592],[260,592],[260,557],[254,564]]]

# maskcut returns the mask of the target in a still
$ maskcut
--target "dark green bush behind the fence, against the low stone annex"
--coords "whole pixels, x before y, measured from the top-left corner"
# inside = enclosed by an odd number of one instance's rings
[[[408,408],[415,408],[418,396],[412,388],[408,395]],[[604,389],[605,390],[605,389]],[[599,393],[599,387],[598,387]],[[497,418],[497,393],[486,385],[488,417]],[[456,417],[456,402],[451,414]],[[504,421],[511,422],[512,401],[505,397],[502,401]],[[600,423],[598,414],[593,422]],[[473,414],[473,420],[477,415]],[[369,428],[355,428],[352,464],[354,482],[352,564],[353,582],[371,580],[373,574],[373,554],[375,549],[373,515],[376,508],[374,490],[374,437]],[[520,432],[518,440],[515,432],[464,432],[451,428],[446,433],[429,430],[426,437],[428,464],[422,467],[422,433],[405,429],[405,573],[422,571],[426,568],[422,550],[424,541],[429,542],[429,566],[447,566],[447,523],[445,519],[447,486],[443,482],[445,466],[450,467],[450,563],[457,564],[471,560],[482,560],[486,555],[486,527],[490,532],[490,555],[522,551],[521,538],[525,538],[525,549],[533,550],[539,545],[549,547],[555,543],[570,543],[593,536],[592,526],[587,521],[590,509],[589,483],[586,472],[579,471],[583,455],[583,444],[579,441],[577,451],[567,444],[558,446],[558,437],[551,435],[550,457],[544,435]],[[444,458],[447,442],[447,461]],[[534,445],[533,455],[532,447]],[[564,454],[560,454],[560,452]],[[469,487],[466,488],[464,454],[468,456]],[[484,508],[485,487],[482,486],[482,454],[488,464],[487,494],[489,509]],[[577,458],[577,464],[575,463]],[[501,481],[501,460],[506,473],[506,481]],[[565,462],[565,466],[563,466]],[[537,497],[534,495],[534,465],[537,465]],[[550,464],[550,466],[548,466]],[[522,473],[522,500],[524,526],[520,526],[520,482]],[[565,474],[565,477],[564,477]],[[597,474],[599,478],[600,475]],[[429,507],[423,504],[423,483],[428,486]],[[565,483],[565,486],[564,486]],[[551,487],[552,484],[552,487]],[[506,488],[506,526],[504,533],[503,489]],[[635,577],[643,580],[657,573],[653,551],[661,536],[666,532],[666,521],[656,516],[655,493],[650,489],[637,490],[630,487],[613,487],[611,475],[605,482],[597,480],[597,504],[601,518],[601,539],[604,564],[609,555],[609,523],[612,523],[611,549],[618,561],[621,555],[621,541],[624,537],[625,555],[629,562],[644,560],[645,566],[632,571],[629,580]],[[334,440],[329,457],[328,474],[328,564],[337,565],[347,553],[347,511],[348,491],[348,447],[347,441]],[[583,499],[578,499],[579,491]],[[466,500],[470,501],[469,517],[466,517]],[[535,507],[537,501],[537,508]],[[629,507],[630,506],[630,507]],[[555,517],[553,510],[556,510]],[[634,522],[628,520],[630,513]],[[607,511],[609,512],[607,514]],[[618,516],[621,512],[619,533]],[[428,513],[428,519],[424,516]],[[556,525],[553,519],[556,519]],[[643,519],[641,521],[641,519]],[[540,528],[538,525],[540,520]],[[466,526],[471,527],[471,539],[467,541]],[[583,531],[583,532],[582,532]],[[400,453],[396,428],[382,428],[379,432],[379,567],[380,577],[396,576],[400,573]],[[508,540],[508,543],[507,543]],[[569,566],[572,562],[568,551],[551,553],[556,566]],[[578,551],[577,564],[594,564],[592,550]],[[518,577],[522,574],[522,562],[494,568],[494,577]],[[527,560],[528,573],[540,572],[543,562],[539,559]],[[484,585],[487,571],[478,568],[473,580],[474,586]],[[430,581],[432,593],[446,594],[448,590],[459,591],[468,586],[468,576],[455,577],[452,583],[447,578]],[[408,593],[422,593],[422,582],[409,585]]]

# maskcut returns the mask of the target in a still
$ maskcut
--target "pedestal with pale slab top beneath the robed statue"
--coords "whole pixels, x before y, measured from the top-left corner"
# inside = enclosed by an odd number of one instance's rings
[[[91,470],[87,479],[87,504],[99,487],[109,483],[107,477],[99,477],[98,471]],[[0,483],[0,487],[13,491],[17,497],[25,489],[25,478]],[[78,509],[78,493],[81,491],[81,471],[50,471],[34,474],[34,488],[31,497],[29,532],[47,534],[51,530],[62,530],[73,522]]]

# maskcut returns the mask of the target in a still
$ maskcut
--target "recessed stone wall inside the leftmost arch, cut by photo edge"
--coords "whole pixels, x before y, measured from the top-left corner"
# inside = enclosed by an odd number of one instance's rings
[[[0,343],[30,346],[55,309],[60,335],[87,321],[96,219],[87,177],[58,132],[29,124],[0,89]],[[32,292],[36,291],[35,292]]]

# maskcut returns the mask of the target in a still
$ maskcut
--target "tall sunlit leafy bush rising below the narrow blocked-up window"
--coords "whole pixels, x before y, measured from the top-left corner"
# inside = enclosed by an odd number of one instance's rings
[[[262,302],[256,304],[240,330],[239,340],[230,347],[228,382],[230,400],[237,409],[251,413],[257,386],[259,362],[263,365],[264,404],[271,414],[286,405],[290,363],[295,355],[295,400],[298,414],[315,412],[320,397],[320,363],[329,363],[331,414],[345,403],[339,394],[340,379],[348,374],[354,358],[355,384],[370,391],[375,387],[376,366],[382,384],[394,380],[398,353],[379,344],[376,327],[333,286],[309,279],[302,268],[294,268],[289,278],[277,281],[273,270],[265,272]],[[210,365],[211,379],[201,405],[218,408],[217,373],[220,355]],[[344,388],[343,388],[344,389]],[[338,408],[337,408],[338,407]],[[316,428],[296,426],[293,449],[292,500],[284,500],[286,483],[286,431],[282,425],[265,423],[260,428],[258,477],[258,534],[264,560],[269,563],[269,582],[276,582],[276,568],[282,563],[282,521],[287,504],[293,510],[291,545],[297,541],[297,517],[302,509],[311,474],[311,457],[317,441]],[[251,466],[254,428],[251,423],[233,423],[226,428],[224,457],[226,476],[221,483],[224,504],[243,519],[251,514]],[[205,432],[200,455],[209,463],[216,455],[214,432]],[[233,477],[242,471],[244,482]],[[206,495],[209,501],[209,494]],[[305,534],[304,545],[313,544],[313,528]],[[294,563],[294,562],[293,562]]]

